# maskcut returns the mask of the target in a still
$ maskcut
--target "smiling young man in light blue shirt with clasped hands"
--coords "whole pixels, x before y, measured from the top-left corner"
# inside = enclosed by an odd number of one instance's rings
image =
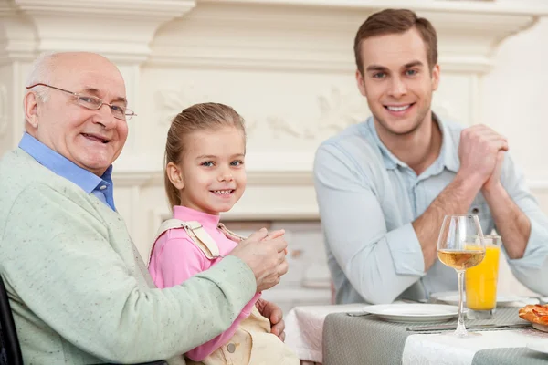
[[[437,260],[446,214],[496,228],[514,274],[548,295],[548,220],[484,125],[467,129],[431,110],[437,36],[409,10],[370,16],[354,42],[356,81],[373,116],[325,141],[314,177],[337,303],[425,299],[457,288]]]

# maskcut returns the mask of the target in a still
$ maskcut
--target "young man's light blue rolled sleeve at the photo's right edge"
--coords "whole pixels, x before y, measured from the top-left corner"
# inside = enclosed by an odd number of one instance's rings
[[[524,286],[548,296],[548,280],[543,280],[548,277],[548,218],[527,188],[522,171],[509,154],[504,159],[501,183],[531,222],[523,257],[508,260],[511,271]]]

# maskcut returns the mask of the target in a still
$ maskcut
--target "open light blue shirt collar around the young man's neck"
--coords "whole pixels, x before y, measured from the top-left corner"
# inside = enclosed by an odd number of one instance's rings
[[[436,162],[434,164],[441,164],[441,168],[447,168],[451,172],[458,172],[460,167],[460,162],[458,161],[458,149],[455,146],[455,141],[451,136],[451,132],[448,129],[447,123],[444,123],[442,120],[437,118],[437,115],[432,112],[432,120],[437,122],[437,126],[441,132],[441,149],[439,151],[439,156],[437,156]],[[389,151],[385,144],[379,138],[376,129],[374,128],[373,117],[369,117],[366,121],[367,128],[371,132],[375,143],[377,144],[381,155],[383,156],[383,162],[385,163],[385,168],[388,170],[394,170],[398,165],[402,167],[408,167],[406,162],[402,162],[400,159],[395,157],[394,153]],[[429,169],[427,169],[429,170]]]

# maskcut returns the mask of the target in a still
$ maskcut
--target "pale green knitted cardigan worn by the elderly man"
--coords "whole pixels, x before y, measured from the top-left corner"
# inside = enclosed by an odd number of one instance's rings
[[[30,364],[170,359],[226,330],[256,291],[241,260],[149,288],[120,214],[17,149],[0,161],[0,274]]]

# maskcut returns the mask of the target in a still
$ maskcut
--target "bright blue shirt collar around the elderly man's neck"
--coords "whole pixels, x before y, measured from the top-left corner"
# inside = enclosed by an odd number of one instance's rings
[[[88,194],[92,193],[101,202],[109,205],[113,211],[116,211],[112,194],[112,165],[99,177],[93,172],[82,169],[79,165],[71,162],[58,152],[53,151],[28,133],[23,135],[23,138],[19,142],[19,148],[26,151],[26,153],[31,155],[41,165],[47,167],[47,169],[68,179],[72,183],[76,183],[84,192]]]

